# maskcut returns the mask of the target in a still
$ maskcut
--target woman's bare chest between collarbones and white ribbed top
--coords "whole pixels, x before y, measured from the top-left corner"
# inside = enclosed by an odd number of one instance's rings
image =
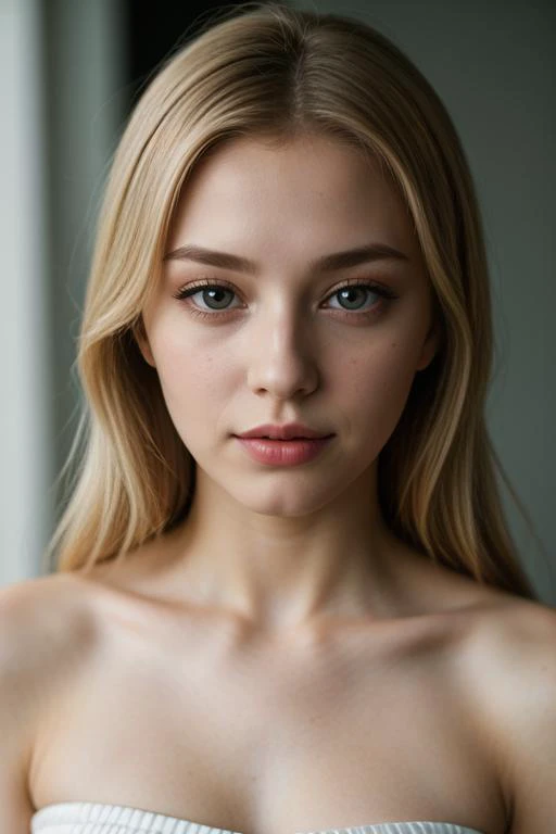
[[[503,834],[488,740],[445,642],[157,637],[115,627],[64,686],[37,740],[36,807],[129,805],[244,834],[384,820]]]

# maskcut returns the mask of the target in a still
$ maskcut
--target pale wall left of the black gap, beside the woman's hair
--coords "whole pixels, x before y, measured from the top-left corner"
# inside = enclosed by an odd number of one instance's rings
[[[121,128],[119,8],[0,0],[0,585],[47,572],[75,338]]]

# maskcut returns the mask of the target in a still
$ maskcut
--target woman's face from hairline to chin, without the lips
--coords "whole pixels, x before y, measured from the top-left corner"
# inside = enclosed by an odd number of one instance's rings
[[[412,220],[380,167],[320,136],[235,140],[187,184],[166,254],[140,348],[198,479],[268,515],[359,494],[437,348]],[[311,463],[261,464],[235,437],[292,421],[334,435]]]

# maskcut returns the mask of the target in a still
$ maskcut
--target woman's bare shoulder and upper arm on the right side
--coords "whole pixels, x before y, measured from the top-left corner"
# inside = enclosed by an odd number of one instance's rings
[[[518,601],[494,606],[477,628],[473,691],[510,809],[508,834],[556,823],[556,611]]]

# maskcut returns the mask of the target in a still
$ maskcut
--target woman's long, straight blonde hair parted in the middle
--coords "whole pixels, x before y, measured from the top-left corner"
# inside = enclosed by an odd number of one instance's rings
[[[535,599],[504,519],[495,467],[509,482],[485,427],[488,265],[455,128],[429,83],[374,28],[276,3],[228,11],[180,47],[141,96],[119,142],[79,336],[85,404],[64,467],[75,465],[74,482],[47,556],[58,549],[58,571],[88,570],[187,517],[194,462],[139,352],[141,311],[195,164],[235,137],[279,142],[307,132],[372,154],[392,177],[413,218],[442,331],[379,456],[384,520],[428,558]]]

